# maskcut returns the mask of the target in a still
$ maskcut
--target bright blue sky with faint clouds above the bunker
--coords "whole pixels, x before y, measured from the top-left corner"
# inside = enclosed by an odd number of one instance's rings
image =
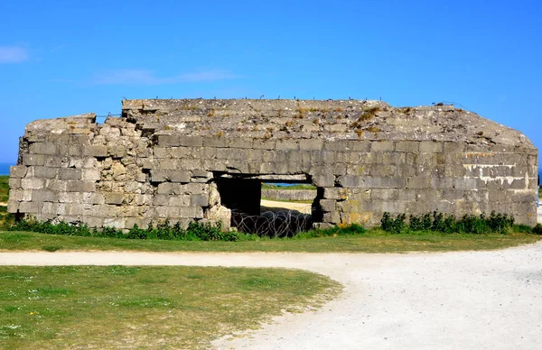
[[[0,1],[0,162],[126,98],[450,101],[542,148],[540,0]]]

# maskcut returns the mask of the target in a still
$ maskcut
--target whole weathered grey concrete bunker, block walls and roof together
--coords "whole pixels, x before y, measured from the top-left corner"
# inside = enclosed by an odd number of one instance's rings
[[[18,164],[10,212],[89,226],[228,225],[230,209],[257,211],[262,180],[312,182],[313,220],[328,224],[435,209],[537,220],[537,149],[453,106],[125,100],[105,124],[95,115],[29,124]]]

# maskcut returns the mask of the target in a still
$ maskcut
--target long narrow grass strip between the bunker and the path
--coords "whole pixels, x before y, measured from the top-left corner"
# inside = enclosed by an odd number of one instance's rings
[[[135,240],[0,232],[0,251],[407,253],[493,250],[531,244],[540,239],[542,236],[527,232],[508,235],[427,232],[390,235],[380,229],[370,229],[360,235],[312,238],[301,235],[299,238],[261,238],[240,242]]]

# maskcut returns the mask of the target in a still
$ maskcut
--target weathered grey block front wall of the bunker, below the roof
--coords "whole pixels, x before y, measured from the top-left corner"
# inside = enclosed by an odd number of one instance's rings
[[[435,209],[456,216],[495,210],[536,223],[537,150],[528,143],[397,140],[374,132],[366,133],[370,139],[332,131],[229,135],[227,128],[190,129],[188,119],[198,125],[210,114],[204,108],[183,117],[153,108],[125,109],[123,118],[101,125],[94,115],[29,124],[11,170],[8,210],[118,228],[165,219],[229,224],[220,179],[274,177],[312,181],[328,224],[378,225],[385,211]],[[173,126],[156,124],[161,118]]]

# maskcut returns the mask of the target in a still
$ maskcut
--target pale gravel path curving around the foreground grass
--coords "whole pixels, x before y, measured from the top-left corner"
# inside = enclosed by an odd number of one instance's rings
[[[322,309],[219,339],[220,349],[542,348],[542,242],[411,254],[0,253],[0,264],[286,267],[345,286]]]

